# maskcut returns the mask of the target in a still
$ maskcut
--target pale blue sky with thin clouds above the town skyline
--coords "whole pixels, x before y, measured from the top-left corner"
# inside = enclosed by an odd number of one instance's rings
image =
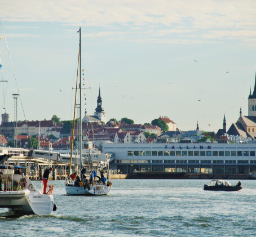
[[[10,121],[12,93],[20,93],[18,120],[73,119],[80,26],[82,115],[85,108],[94,113],[99,86],[107,120],[150,123],[161,115],[182,131],[196,129],[198,120],[200,129],[217,132],[224,114],[227,128],[240,107],[248,115],[255,1],[0,0],[0,6],[0,81],[8,81],[0,82],[0,109]]]

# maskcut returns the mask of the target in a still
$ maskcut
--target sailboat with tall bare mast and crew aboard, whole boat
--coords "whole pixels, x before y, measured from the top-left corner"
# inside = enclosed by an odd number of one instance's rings
[[[85,173],[82,173],[82,71],[81,71],[81,28],[79,29],[80,33],[80,44],[79,44],[79,52],[80,56],[78,57],[78,60],[80,60],[80,178],[76,181],[71,180],[71,178],[67,178],[65,180],[65,190],[68,195],[107,195],[112,187],[112,182],[107,180],[107,178],[104,177],[104,171],[101,167],[101,177],[94,176],[93,178],[90,177],[90,175],[86,175]],[[77,73],[78,74],[78,73]],[[78,78],[78,77],[77,77]],[[78,80],[77,80],[78,81]],[[76,86],[77,90],[77,86]],[[77,93],[76,93],[77,94]],[[76,99],[75,99],[75,108],[76,108]],[[74,122],[75,122],[75,108],[74,108],[74,119],[73,119],[73,135],[72,135],[72,147],[71,147],[71,153],[70,153],[70,164],[69,164],[69,175],[72,165],[72,150],[73,150],[73,139],[74,139]],[[91,170],[90,173],[97,172],[96,170]],[[98,171],[99,172],[99,171]],[[104,177],[104,178],[103,178]]]

